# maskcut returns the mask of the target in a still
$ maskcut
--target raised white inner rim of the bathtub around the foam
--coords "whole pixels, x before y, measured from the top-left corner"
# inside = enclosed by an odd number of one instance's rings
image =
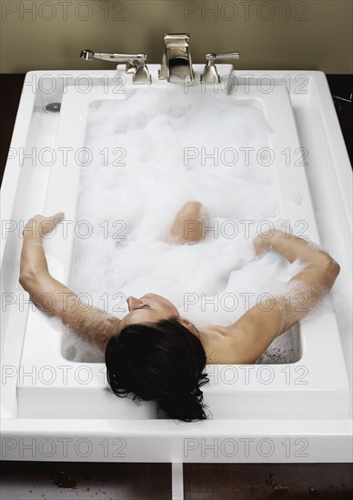
[[[224,68],[225,69],[225,68]],[[230,68],[228,68],[228,71]],[[228,84],[232,80],[229,79]],[[188,95],[199,94],[200,85],[168,85],[166,81],[156,81],[155,86],[161,93],[169,93],[170,99],[176,92],[187,92]],[[284,151],[297,152],[300,144],[295,125],[294,115],[291,107],[290,97],[285,85],[276,85],[272,92],[265,94],[257,85],[229,85],[230,95],[227,98],[237,102],[239,105],[255,105],[267,117],[267,121],[273,129],[270,136],[270,148],[274,156],[274,177],[277,185],[277,200],[280,217],[290,221],[306,221],[308,225],[308,237],[319,243],[318,230],[315,216],[311,207],[310,194],[308,191],[307,177],[305,174],[305,159],[300,161],[296,155],[296,163],[293,159],[288,162]],[[225,85],[216,87],[218,92],[225,94]],[[55,138],[55,150],[63,151],[69,148],[78,151],[86,146],[86,124],[90,105],[96,101],[108,100],[110,102],[123,101],[126,99],[126,91],[138,92],[133,84],[126,84],[125,92],[116,93],[116,85],[93,85],[91,91],[83,94],[76,85],[68,85],[63,95],[61,112],[57,133]],[[146,93],[151,88],[146,89]],[[205,98],[215,95],[214,85],[204,86]],[[234,109],[234,108],[233,108]],[[217,128],[215,128],[217,135]],[[229,145],[231,146],[231,145]],[[60,158],[60,155],[57,155]],[[66,219],[76,221],[77,193],[79,190],[81,165],[70,156],[66,165],[55,162],[51,167],[51,173],[46,190],[45,214],[55,214],[60,210],[65,212]],[[293,202],[300,196],[298,203]],[[58,232],[59,233],[59,232]],[[306,231],[307,233],[307,231]],[[75,236],[74,225],[67,230],[67,238],[63,239],[55,235],[47,241],[46,252],[55,264],[62,269],[60,278],[68,282],[72,261],[72,248]],[[37,312],[29,311],[27,328],[25,333],[25,345],[22,354],[22,365],[25,373],[30,367],[43,365],[49,360],[50,364],[59,366],[66,364],[66,360],[59,354],[61,333],[50,325],[43,315],[42,325],[36,321]],[[329,327],[327,327],[329,325]],[[51,331],[50,331],[50,330]],[[325,333],[323,333],[323,330]],[[41,336],[41,338],[39,337]],[[55,338],[55,344],[53,339]],[[57,339],[57,340],[56,340]],[[305,321],[300,326],[300,344],[302,356],[299,361],[291,366],[292,380],[290,375],[283,371],[283,365],[271,365],[271,368],[256,367],[257,375],[247,379],[246,369],[231,370],[223,367],[215,368],[216,374],[211,375],[210,384],[204,387],[206,401],[210,405],[214,418],[232,418],[248,416],[254,418],[257,415],[258,405],[261,405],[264,418],[284,417],[298,418],[320,417],[323,415],[346,416],[349,409],[349,384],[345,371],[342,349],[339,342],[338,326],[334,313],[318,318],[318,320]],[[37,345],[42,348],[38,349]],[[317,346],[321,345],[318,349]],[[57,355],[59,356],[57,357]],[[338,366],[335,377],[328,372],[326,365],[321,362],[330,358],[330,362]],[[82,370],[85,365],[81,364]],[[94,366],[91,368],[91,366]],[[75,370],[76,368],[76,370]],[[212,373],[211,367],[210,372]],[[92,417],[102,418],[105,415],[131,415],[132,418],[151,418],[153,408],[151,405],[141,405],[138,408],[131,405],[129,401],[116,401],[115,395],[108,395],[104,390],[106,381],[104,379],[104,365],[95,366],[90,364],[90,370],[95,371],[94,381],[85,386],[81,381],[76,381],[77,366],[74,364],[72,375],[68,376],[66,384],[60,383],[60,375],[55,377],[55,383],[48,386],[47,382],[32,384],[28,378],[22,385],[17,385],[18,409],[20,416],[39,416],[45,413],[45,417],[85,418],[89,414]],[[79,371],[78,371],[79,373]],[[262,374],[262,375],[261,375]],[[49,375],[49,374],[45,374]],[[250,374],[249,374],[250,375]],[[251,374],[252,375],[252,374]],[[288,377],[289,375],[289,377]],[[288,380],[289,378],[289,380]],[[293,380],[295,378],[295,381]],[[249,381],[251,380],[251,384]],[[68,389],[73,390],[73,404],[67,407],[63,401],[67,397]],[[75,392],[74,392],[75,391]],[[254,392],[257,395],[254,395]],[[93,397],[87,397],[92,392]],[[109,397],[110,396],[110,397]],[[96,402],[102,398],[101,405]],[[40,404],[40,401],[43,401]],[[282,401],[280,408],[277,403]],[[44,403],[47,405],[44,405]],[[49,404],[50,402],[50,404]],[[261,403],[260,403],[261,402]],[[110,408],[110,410],[108,409]]]

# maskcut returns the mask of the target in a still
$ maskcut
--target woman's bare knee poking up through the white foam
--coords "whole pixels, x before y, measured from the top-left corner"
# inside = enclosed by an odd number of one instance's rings
[[[203,236],[206,210],[199,202],[187,202],[176,214],[167,243],[183,245],[196,243]]]

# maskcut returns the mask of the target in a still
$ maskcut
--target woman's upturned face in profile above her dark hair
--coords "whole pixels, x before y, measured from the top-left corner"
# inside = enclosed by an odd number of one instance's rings
[[[171,316],[179,316],[176,307],[165,297],[156,294],[146,294],[141,298],[127,298],[129,312],[120,321],[118,332],[128,325],[155,323]]]

